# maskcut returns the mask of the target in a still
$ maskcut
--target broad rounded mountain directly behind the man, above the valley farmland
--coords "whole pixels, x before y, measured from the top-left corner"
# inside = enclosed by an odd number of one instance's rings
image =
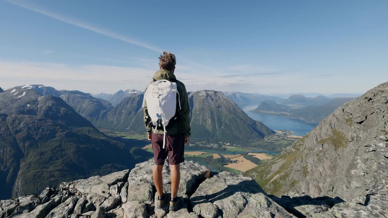
[[[202,90],[188,94],[193,139],[242,143],[262,140],[274,133],[261,122],[249,118],[222,92]],[[103,111],[95,126],[144,133],[143,97],[142,94],[126,97],[114,109]]]

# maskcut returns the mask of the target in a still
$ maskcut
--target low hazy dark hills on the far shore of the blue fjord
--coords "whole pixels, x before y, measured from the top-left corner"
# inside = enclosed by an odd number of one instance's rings
[[[316,97],[317,98],[317,97]],[[315,98],[315,99],[316,99]],[[303,99],[303,98],[301,98]],[[308,122],[318,123],[324,117],[329,115],[337,107],[354,98],[334,98],[319,106],[290,107],[273,101],[264,101],[252,112],[271,114],[275,116],[284,116],[287,118],[302,119]],[[303,101],[305,103],[305,101]]]

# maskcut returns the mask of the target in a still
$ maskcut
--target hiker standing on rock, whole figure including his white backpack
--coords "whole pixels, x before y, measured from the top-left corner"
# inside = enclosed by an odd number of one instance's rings
[[[170,211],[177,211],[183,202],[177,197],[180,171],[179,164],[184,161],[184,144],[190,140],[190,107],[185,85],[174,75],[175,55],[163,52],[159,56],[160,70],[156,71],[153,81],[145,89],[143,107],[144,123],[148,140],[154,151],[153,177],[158,201],[156,206],[165,206],[162,170],[165,159],[171,170]]]

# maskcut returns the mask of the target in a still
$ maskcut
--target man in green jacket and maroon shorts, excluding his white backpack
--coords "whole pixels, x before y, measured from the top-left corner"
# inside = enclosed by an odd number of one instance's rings
[[[152,125],[147,105],[144,104],[145,128],[147,128],[148,140],[152,143],[155,158],[153,177],[159,196],[156,206],[158,208],[165,206],[166,197],[163,193],[162,170],[165,159],[168,156],[168,163],[170,164],[171,170],[170,211],[177,211],[183,203],[177,197],[180,180],[179,164],[184,161],[184,144],[189,143],[191,130],[189,98],[187,97],[185,85],[175,78],[175,64],[175,55],[170,52],[163,52],[159,56],[160,70],[156,71],[153,76],[153,81],[150,83],[152,84],[158,80],[169,80],[178,85],[177,90],[179,95],[177,95],[177,98],[179,99],[177,99],[176,113],[174,116],[176,119],[170,120],[166,126],[165,148],[163,148],[163,128],[156,128]],[[178,102],[180,102],[180,108]]]

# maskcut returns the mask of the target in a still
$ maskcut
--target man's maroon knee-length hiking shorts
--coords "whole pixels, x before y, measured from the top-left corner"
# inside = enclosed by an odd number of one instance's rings
[[[166,135],[166,145],[163,149],[163,135],[152,133],[152,149],[154,150],[155,165],[165,164],[168,156],[168,163],[176,165],[185,160],[185,137],[183,133]]]

